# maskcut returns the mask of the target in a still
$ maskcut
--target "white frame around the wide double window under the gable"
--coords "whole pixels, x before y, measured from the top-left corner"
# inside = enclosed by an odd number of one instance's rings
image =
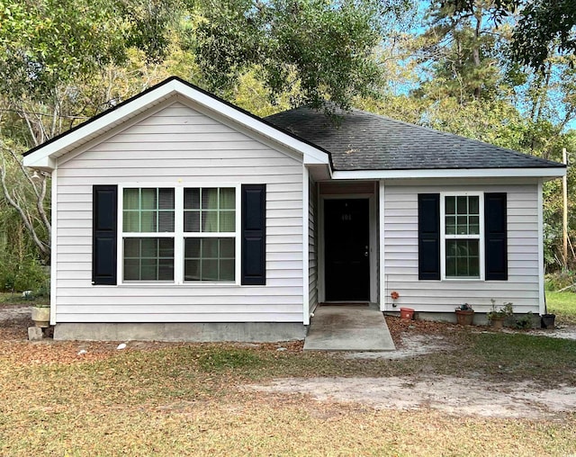
[[[184,189],[228,187],[235,189],[235,232],[184,232]],[[123,227],[124,189],[167,188],[174,189],[174,232],[125,232]],[[118,185],[118,244],[117,271],[121,285],[175,284],[192,287],[238,286],[241,267],[241,184],[238,183],[135,183]],[[174,281],[124,281],[124,237],[173,237],[174,238]],[[234,238],[234,281],[184,281],[184,237],[233,237]]]

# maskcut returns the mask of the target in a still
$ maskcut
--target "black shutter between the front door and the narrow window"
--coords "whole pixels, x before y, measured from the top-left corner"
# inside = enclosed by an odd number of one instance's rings
[[[440,195],[418,195],[418,278],[440,279]]]

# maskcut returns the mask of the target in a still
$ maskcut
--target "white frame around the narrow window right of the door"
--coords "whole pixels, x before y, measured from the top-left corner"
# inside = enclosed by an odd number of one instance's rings
[[[479,233],[478,235],[446,235],[446,197],[478,197]],[[484,193],[482,192],[445,192],[440,193],[440,274],[442,281],[484,281]],[[446,276],[446,240],[478,239],[478,257],[480,276]]]

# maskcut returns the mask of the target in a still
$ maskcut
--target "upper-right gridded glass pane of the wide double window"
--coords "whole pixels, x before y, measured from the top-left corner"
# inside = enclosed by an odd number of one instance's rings
[[[236,189],[233,187],[184,189],[184,232],[236,231]]]

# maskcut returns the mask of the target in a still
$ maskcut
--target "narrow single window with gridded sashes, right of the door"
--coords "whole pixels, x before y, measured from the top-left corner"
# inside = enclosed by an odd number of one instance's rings
[[[481,278],[481,195],[445,195],[444,277]]]

